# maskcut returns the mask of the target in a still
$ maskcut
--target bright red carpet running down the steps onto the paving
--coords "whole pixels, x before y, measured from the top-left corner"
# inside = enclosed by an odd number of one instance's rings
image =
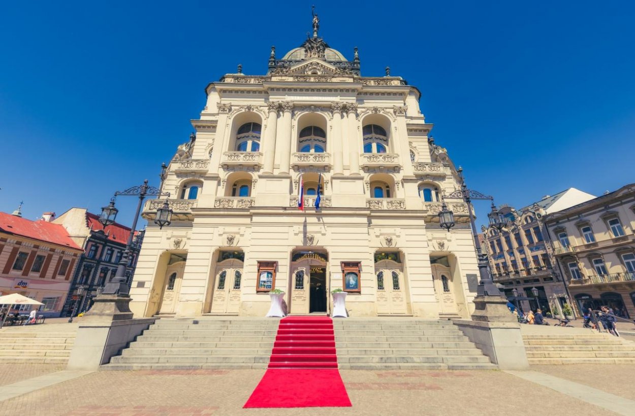
[[[344,406],[351,400],[337,370],[331,318],[281,320],[269,369],[243,407]]]

